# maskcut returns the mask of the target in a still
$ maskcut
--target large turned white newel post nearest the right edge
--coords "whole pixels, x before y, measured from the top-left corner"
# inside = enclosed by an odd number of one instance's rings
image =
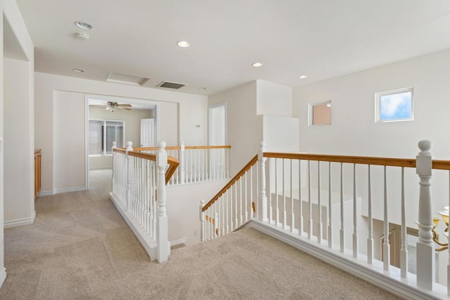
[[[435,282],[435,244],[432,240],[432,204],[431,204],[431,177],[432,156],[431,142],[420,141],[420,152],[416,157],[416,173],[419,182],[419,240],[417,242],[417,285],[424,289],[432,289]]]

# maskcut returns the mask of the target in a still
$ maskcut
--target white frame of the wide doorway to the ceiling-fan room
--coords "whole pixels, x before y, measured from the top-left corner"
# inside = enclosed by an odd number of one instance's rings
[[[160,138],[160,117],[158,110],[158,102],[153,100],[144,100],[137,98],[125,98],[106,95],[86,94],[84,95],[84,185],[86,190],[89,190],[89,102],[120,102],[129,103],[131,105],[148,106],[148,109],[155,111],[155,141],[159,141]],[[124,132],[124,140],[127,142],[127,135]],[[135,145],[136,147],[136,145]]]

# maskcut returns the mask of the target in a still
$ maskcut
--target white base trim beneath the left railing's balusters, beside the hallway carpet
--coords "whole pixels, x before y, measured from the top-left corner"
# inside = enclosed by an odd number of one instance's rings
[[[154,261],[156,259],[156,247],[157,247],[156,240],[151,239],[150,235],[148,235],[148,233],[146,233],[146,231],[143,230],[142,226],[139,225],[134,216],[128,211],[126,211],[127,209],[125,207],[122,207],[122,204],[120,203],[120,200],[117,198],[116,195],[114,195],[111,192],[109,193],[109,195],[111,201],[117,208],[117,211],[119,211],[119,213],[122,215],[122,218],[128,224],[131,231],[133,231],[134,235],[136,235],[139,242],[141,242],[142,247],[146,249],[148,257],[150,257],[150,261]]]

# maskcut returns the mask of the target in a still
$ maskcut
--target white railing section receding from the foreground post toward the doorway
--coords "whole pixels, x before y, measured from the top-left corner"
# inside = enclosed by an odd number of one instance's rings
[[[166,184],[179,165],[160,142],[155,154],[113,148],[113,193],[120,214],[139,238],[150,259],[162,263],[170,254]]]

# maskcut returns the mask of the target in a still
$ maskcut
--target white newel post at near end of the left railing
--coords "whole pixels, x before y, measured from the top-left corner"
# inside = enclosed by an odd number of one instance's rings
[[[156,164],[158,166],[158,214],[156,216],[156,259],[159,263],[163,263],[169,259],[169,228],[167,222],[166,209],[166,169],[167,169],[167,152],[165,142],[158,145],[158,153],[156,154]]]

